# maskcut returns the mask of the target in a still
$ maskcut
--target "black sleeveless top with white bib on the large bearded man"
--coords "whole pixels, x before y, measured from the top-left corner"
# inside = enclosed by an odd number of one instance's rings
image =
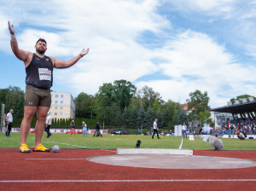
[[[53,82],[53,63],[44,55],[40,58],[33,54],[32,61],[26,67],[26,84],[38,89],[49,90]]]

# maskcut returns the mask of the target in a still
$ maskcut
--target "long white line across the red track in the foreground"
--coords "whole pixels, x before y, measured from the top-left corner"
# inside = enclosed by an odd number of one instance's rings
[[[170,180],[2,180],[1,183],[25,182],[256,182],[256,179],[170,179]]]

